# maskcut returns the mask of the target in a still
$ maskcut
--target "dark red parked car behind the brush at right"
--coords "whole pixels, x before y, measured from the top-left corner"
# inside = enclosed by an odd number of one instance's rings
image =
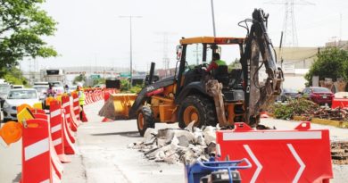
[[[317,104],[332,104],[335,97],[327,87],[306,87],[302,90],[302,97],[308,98]]]

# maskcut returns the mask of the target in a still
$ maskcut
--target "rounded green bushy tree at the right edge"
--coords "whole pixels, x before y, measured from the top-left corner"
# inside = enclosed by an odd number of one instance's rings
[[[337,78],[348,79],[348,51],[337,47],[329,47],[319,54],[318,59],[311,65],[310,71],[304,76],[311,86],[313,76],[319,79],[330,78],[336,81]]]

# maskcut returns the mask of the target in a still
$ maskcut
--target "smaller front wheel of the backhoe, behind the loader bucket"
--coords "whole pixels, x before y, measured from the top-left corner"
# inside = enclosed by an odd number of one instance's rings
[[[137,130],[140,136],[144,136],[147,128],[154,128],[153,111],[150,107],[143,106],[137,113]]]

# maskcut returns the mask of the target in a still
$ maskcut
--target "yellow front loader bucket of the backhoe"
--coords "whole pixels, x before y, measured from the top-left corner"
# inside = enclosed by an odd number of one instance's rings
[[[130,107],[136,101],[137,94],[112,94],[116,117],[128,118]]]

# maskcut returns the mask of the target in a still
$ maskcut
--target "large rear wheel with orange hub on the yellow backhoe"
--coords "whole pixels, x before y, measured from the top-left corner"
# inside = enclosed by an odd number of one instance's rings
[[[195,121],[195,127],[216,124],[215,105],[205,96],[187,96],[178,109],[178,126],[181,129]]]

